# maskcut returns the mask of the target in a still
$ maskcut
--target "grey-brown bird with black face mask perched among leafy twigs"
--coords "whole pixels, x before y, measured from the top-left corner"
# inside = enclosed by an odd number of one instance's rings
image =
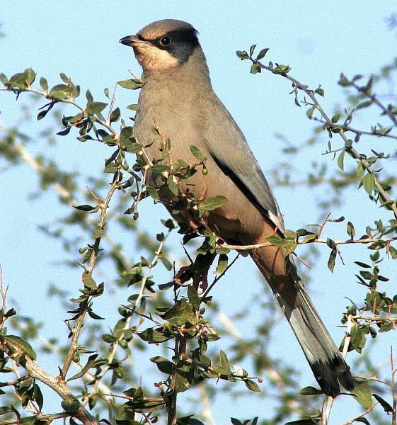
[[[217,236],[231,244],[248,245],[282,235],[277,201],[246,138],[212,90],[195,28],[166,19],[120,42],[133,47],[144,70],[134,135],[137,142],[149,146],[149,158],[161,156],[161,140],[152,131],[155,124],[171,140],[168,160],[197,164],[190,145],[207,157],[208,175],[195,173],[189,191],[197,198],[226,196],[226,204],[208,217]],[[180,184],[188,190],[183,181]],[[164,203],[173,198],[167,191],[161,196]],[[292,258],[286,258],[277,246],[253,249],[249,254],[275,293],[322,390],[332,397],[340,394],[340,385],[352,390],[350,368],[318,316]]]

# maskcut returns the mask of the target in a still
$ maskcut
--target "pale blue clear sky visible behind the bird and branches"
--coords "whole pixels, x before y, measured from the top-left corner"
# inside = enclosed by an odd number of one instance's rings
[[[396,55],[396,34],[387,30],[385,18],[396,8],[394,1],[9,1],[1,8],[1,30],[6,37],[0,40],[0,72],[8,77],[33,67],[39,76],[45,76],[50,85],[59,83],[59,72],[64,72],[80,84],[82,91],[91,89],[98,101],[104,101],[103,88],[110,90],[115,81],[127,79],[128,70],[139,75],[140,69],[134,60],[132,50],[120,45],[118,40],[132,35],[147,23],[163,18],[177,18],[192,23],[200,33],[200,42],[207,55],[214,90],[234,115],[246,135],[258,162],[266,171],[283,161],[281,148],[284,147],[275,136],[282,133],[289,140],[300,145],[311,135],[312,123],[306,118],[304,108],[294,106],[292,96],[288,95],[290,86],[282,78],[270,73],[252,76],[248,63],[240,62],[236,50],[248,49],[252,44],[270,47],[268,60],[289,64],[292,76],[309,86],[318,84],[326,91],[323,106],[333,111],[340,101],[341,89],[336,83],[340,72],[348,76],[376,72],[382,65],[391,62]],[[28,103],[21,96],[18,103],[15,96],[0,93],[0,123],[11,126],[22,121],[23,130],[29,132],[45,128],[45,123],[23,123],[21,106]],[[137,93],[117,91],[117,104],[122,111],[129,103],[136,103]],[[128,113],[125,113],[128,116]],[[362,125],[366,125],[365,122]],[[368,124],[369,125],[369,124]],[[367,127],[368,127],[367,125]],[[321,157],[326,150],[323,146],[313,148],[314,159],[328,161]],[[385,152],[395,152],[389,142],[382,142]],[[368,144],[369,146],[369,144]],[[372,147],[372,145],[371,145]],[[40,140],[35,143],[32,153],[40,152]],[[81,144],[74,137],[64,137],[57,149],[45,147],[57,161],[69,170],[86,170],[87,174],[98,175],[102,169],[105,150],[89,144]],[[313,157],[300,157],[294,164],[305,176]],[[59,268],[55,260],[64,259],[62,246],[49,239],[38,229],[45,216],[46,222],[56,222],[59,205],[56,196],[45,193],[37,200],[29,200],[28,194],[37,190],[37,181],[32,181],[28,166],[14,169],[5,167],[0,158],[1,204],[0,204],[0,261],[4,280],[9,285],[9,296],[18,304],[18,312],[25,316],[40,317],[47,322],[43,333],[45,337],[53,334],[66,334],[62,319],[64,311],[46,297],[49,283],[56,282],[64,288],[71,288],[76,294],[80,285],[80,271]],[[298,174],[299,175],[299,174]],[[270,179],[271,181],[271,179]],[[85,185],[86,183],[83,182]],[[275,194],[284,213],[287,227],[298,229],[312,222],[318,222],[318,212],[311,205],[315,199],[310,191],[295,188],[276,188]],[[318,196],[318,194],[316,194]],[[323,193],[324,198],[327,193]],[[353,196],[353,195],[352,195]],[[359,199],[364,199],[361,191]],[[333,216],[345,215],[357,227],[357,233],[364,232],[369,220],[357,217],[355,198],[345,198],[343,205],[333,210]],[[65,207],[62,207],[65,208]],[[142,225],[146,228],[160,229],[159,218],[166,217],[160,206],[146,203]],[[64,211],[62,211],[64,213]],[[373,207],[368,212],[374,219],[382,212]],[[146,218],[147,217],[147,218]],[[345,226],[330,229],[332,237],[345,237]],[[331,234],[328,234],[331,236]],[[121,235],[120,235],[121,237]],[[328,250],[323,250],[324,256]],[[340,341],[343,331],[337,329],[335,311],[343,310],[345,300],[339,296],[337,285],[343,293],[355,296],[357,284],[350,255],[353,250],[344,249],[346,266],[340,263],[331,274],[326,267],[325,257],[309,273],[313,273],[311,294],[318,310],[324,318],[331,334]],[[78,257],[69,258],[73,261]],[[364,259],[367,259],[365,254]],[[395,274],[396,264],[388,263],[386,270]],[[249,259],[240,262],[237,273],[230,273],[225,286],[214,289],[214,297],[221,302],[226,314],[234,314],[234,304],[249,304],[255,290],[260,288],[258,274]],[[239,276],[243,272],[246,281],[241,285]],[[384,273],[386,274],[386,273]],[[387,276],[387,274],[386,274]],[[259,281],[259,280],[258,280]],[[225,285],[225,280],[223,285]],[[241,289],[243,286],[243,289]],[[347,289],[345,290],[345,288]],[[225,292],[228,295],[225,295]],[[233,296],[234,295],[234,296]],[[328,300],[332,300],[329,302]],[[106,314],[102,307],[99,314]],[[260,321],[260,317],[252,318]],[[242,334],[246,329],[238,329]],[[289,332],[287,325],[280,332]],[[280,334],[281,335],[281,334]],[[311,373],[292,334],[282,346],[275,341],[275,352],[287,356],[291,363],[301,364],[305,385],[313,384]],[[379,364],[386,363],[389,356],[391,338],[387,334],[387,344],[379,345]],[[386,338],[385,338],[386,339]],[[385,341],[386,342],[386,341]],[[221,344],[219,346],[221,347]],[[295,355],[296,353],[296,355]],[[55,365],[45,365],[52,373],[57,373]],[[252,412],[266,417],[266,404],[260,398],[246,397],[246,406],[236,405],[227,398],[219,397],[214,405],[217,424],[226,424],[226,418],[236,416],[247,419]],[[331,424],[340,424],[354,415],[346,412],[343,400],[335,407]],[[225,407],[227,406],[227,407]],[[226,410],[227,412],[226,412]],[[358,411],[357,411],[358,412]]]

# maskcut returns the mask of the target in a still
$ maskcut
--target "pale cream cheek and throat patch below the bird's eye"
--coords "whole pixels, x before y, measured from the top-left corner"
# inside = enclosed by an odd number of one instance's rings
[[[167,50],[153,45],[142,45],[135,48],[135,56],[145,72],[159,72],[176,68],[179,61]]]

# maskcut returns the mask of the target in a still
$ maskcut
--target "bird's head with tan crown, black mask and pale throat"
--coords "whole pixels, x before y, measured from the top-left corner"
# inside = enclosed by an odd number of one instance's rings
[[[134,49],[146,73],[180,67],[189,60],[195,48],[200,47],[197,30],[190,23],[176,19],[150,23],[120,42]]]

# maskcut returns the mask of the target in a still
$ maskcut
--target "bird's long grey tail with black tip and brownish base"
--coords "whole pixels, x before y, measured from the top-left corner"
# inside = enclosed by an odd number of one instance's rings
[[[275,246],[256,249],[251,257],[275,293],[321,389],[331,397],[340,394],[340,385],[352,390],[350,368],[318,315],[292,259],[284,261]]]

